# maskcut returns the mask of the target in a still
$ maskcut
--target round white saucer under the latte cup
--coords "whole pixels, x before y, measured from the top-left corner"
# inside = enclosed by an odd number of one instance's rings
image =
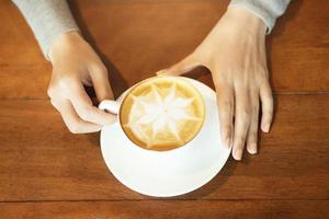
[[[230,149],[220,142],[216,93],[198,81],[185,79],[203,95],[206,115],[198,135],[186,146],[174,149],[174,153],[134,146],[118,124],[101,131],[101,149],[107,168],[135,192],[156,197],[192,192],[209,182],[230,154]]]

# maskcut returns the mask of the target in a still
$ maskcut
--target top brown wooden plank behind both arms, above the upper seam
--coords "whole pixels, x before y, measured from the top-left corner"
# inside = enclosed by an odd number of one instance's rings
[[[218,0],[76,0],[71,9],[83,35],[111,72],[116,96],[193,49],[227,7]],[[46,99],[50,65],[23,18],[0,0],[0,99]],[[269,67],[277,93],[328,92],[329,4],[292,1],[268,38]],[[203,71],[204,72],[204,71]],[[200,77],[212,84],[211,76]]]

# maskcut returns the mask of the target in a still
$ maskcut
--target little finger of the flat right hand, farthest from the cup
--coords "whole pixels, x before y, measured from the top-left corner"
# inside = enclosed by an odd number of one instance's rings
[[[265,81],[262,84],[260,90],[260,99],[262,103],[261,129],[264,132],[269,132],[273,118],[273,95],[269,81]]]

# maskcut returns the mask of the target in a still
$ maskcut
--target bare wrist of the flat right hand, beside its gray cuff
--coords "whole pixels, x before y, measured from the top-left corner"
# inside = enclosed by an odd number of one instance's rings
[[[243,8],[229,7],[225,15],[234,23],[237,30],[261,35],[266,34],[266,25],[263,20]]]

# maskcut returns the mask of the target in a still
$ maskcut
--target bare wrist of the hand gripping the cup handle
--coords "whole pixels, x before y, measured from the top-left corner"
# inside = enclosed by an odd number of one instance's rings
[[[54,62],[57,54],[63,53],[80,41],[83,41],[83,38],[78,32],[67,32],[57,36],[49,47],[48,56],[50,61]]]

